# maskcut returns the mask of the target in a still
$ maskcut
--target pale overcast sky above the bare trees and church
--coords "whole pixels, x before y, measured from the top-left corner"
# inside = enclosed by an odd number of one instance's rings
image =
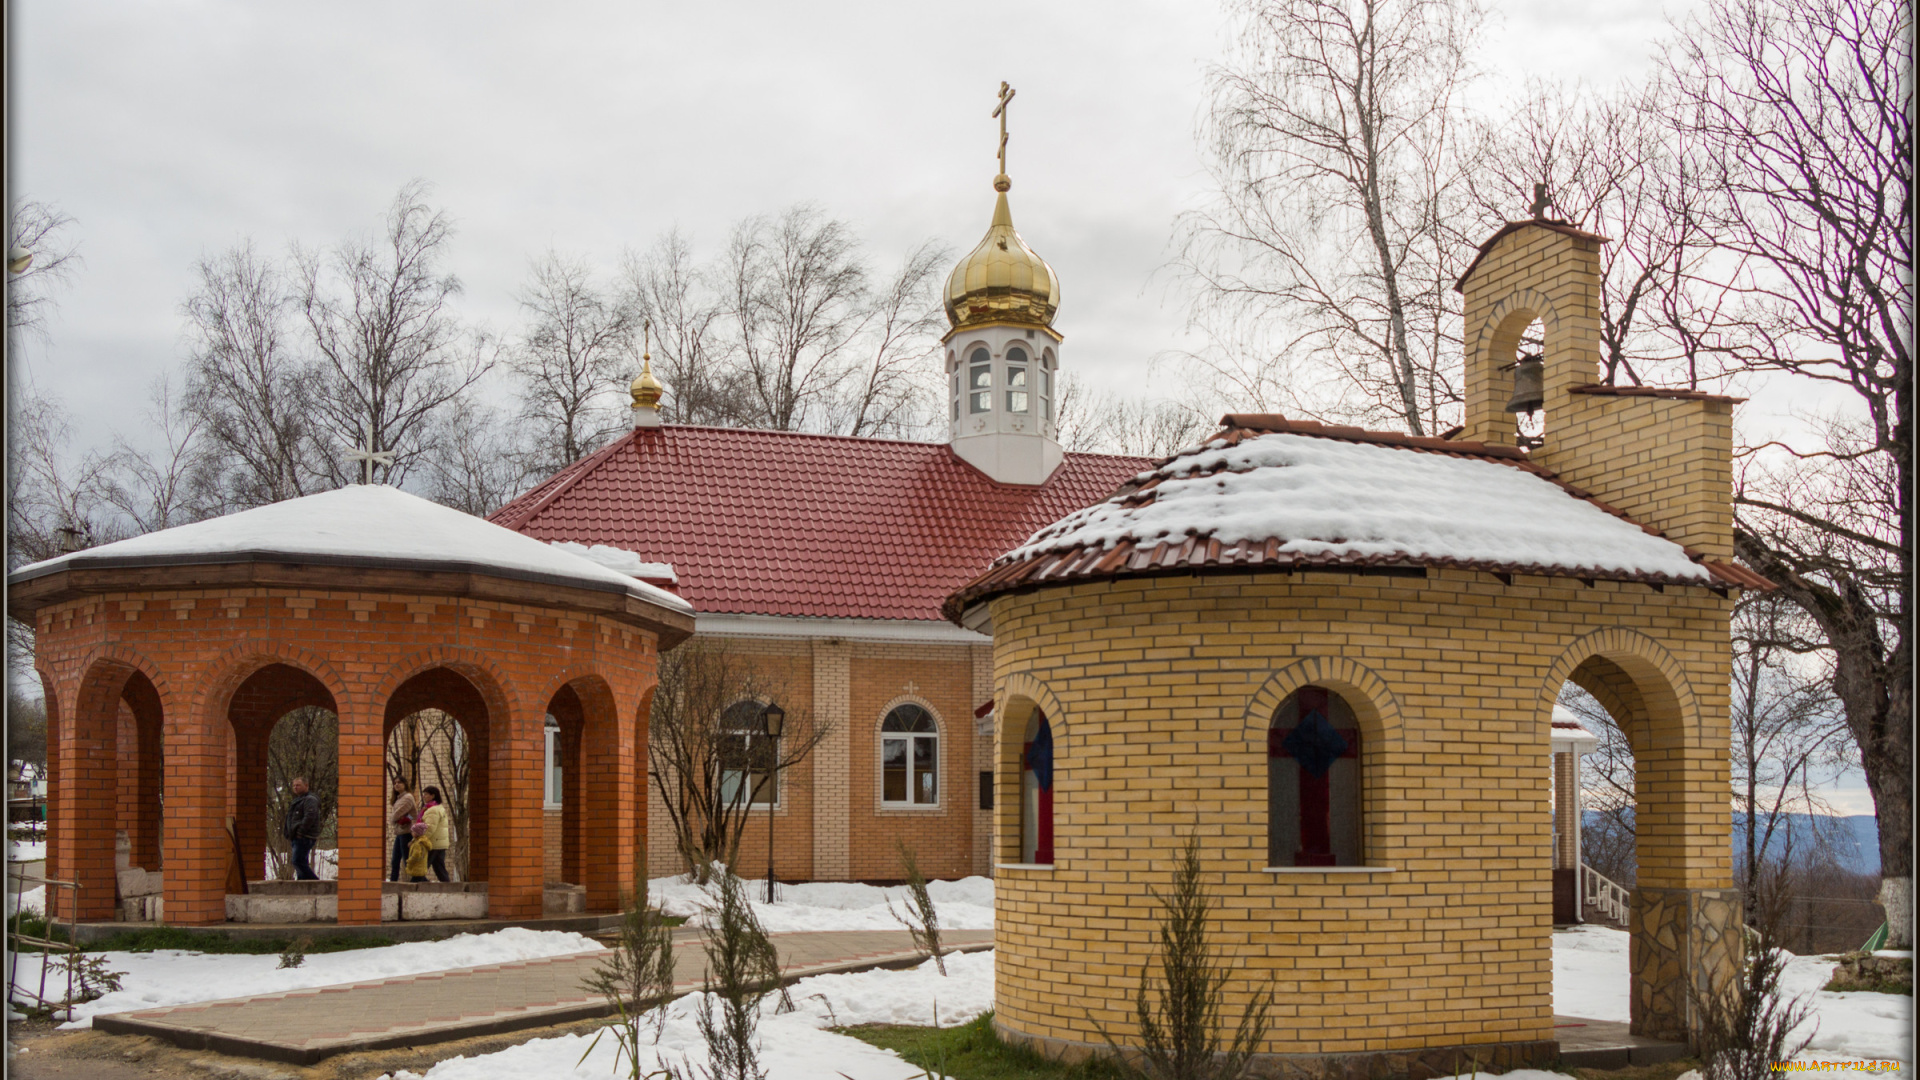
[[[1686,0],[1676,0],[1686,2]],[[1206,0],[927,4],[12,4],[15,196],[75,219],[84,267],[29,377],[81,440],[180,356],[196,258],[369,233],[409,179],[457,221],[467,317],[505,331],[530,256],[612,267],[678,225],[703,252],[818,202],[881,261],[991,213],[1000,79],[1014,217],[1060,273],[1064,363],[1133,388],[1181,344],[1156,277],[1204,194]],[[1659,0],[1509,0],[1488,94],[1645,71]],[[1517,208],[1519,209],[1519,208]]]

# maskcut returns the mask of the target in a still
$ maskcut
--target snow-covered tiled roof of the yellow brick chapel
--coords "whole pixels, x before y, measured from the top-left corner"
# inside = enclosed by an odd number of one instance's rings
[[[1647,584],[1763,584],[1584,498],[1509,446],[1283,417],[1225,430],[1041,528],[947,601],[1204,567],[1463,567]]]

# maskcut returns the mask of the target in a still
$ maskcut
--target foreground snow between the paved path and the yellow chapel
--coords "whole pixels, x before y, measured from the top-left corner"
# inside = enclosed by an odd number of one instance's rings
[[[925,1076],[887,1049],[824,1028],[851,1024],[964,1024],[993,1007],[993,953],[947,957],[943,978],[933,961],[908,970],[862,970],[820,974],[791,988],[795,1011],[774,1013],[774,1001],[760,1007],[760,1065],[768,1080],[820,1080],[847,1074],[856,1080],[908,1080]],[[699,1001],[693,994],[666,1005],[666,1030],[659,1045],[641,1043],[641,1072],[664,1065],[708,1065],[699,1032]],[[718,999],[714,1001],[718,1009]],[[653,1022],[655,1009],[645,1017]],[[649,1032],[651,1036],[651,1032]],[[612,1036],[601,1038],[586,1057],[593,1036],[532,1040],[482,1057],[451,1057],[426,1070],[426,1080],[522,1080],[526,1076],[591,1076],[614,1072]],[[624,1074],[624,1072],[622,1072]],[[420,1080],[419,1072],[394,1072],[382,1080]]]

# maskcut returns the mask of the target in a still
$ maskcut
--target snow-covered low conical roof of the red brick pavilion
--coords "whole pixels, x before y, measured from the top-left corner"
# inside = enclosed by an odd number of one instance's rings
[[[678,613],[693,607],[599,561],[384,484],[355,484],[29,563],[19,586],[61,571],[292,563],[453,571],[620,592]]]

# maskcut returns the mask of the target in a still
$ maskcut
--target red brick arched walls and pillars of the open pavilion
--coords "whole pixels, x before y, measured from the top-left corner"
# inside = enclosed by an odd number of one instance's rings
[[[595,842],[584,861],[589,909],[612,909],[632,880],[626,853],[647,813],[639,709],[655,680],[655,640],[636,626],[524,603],[240,588],[71,600],[38,611],[35,630],[50,715],[60,717],[50,847],[61,872],[83,882],[83,917],[102,919],[113,907],[119,711],[123,700],[138,705],[129,694],[134,673],[152,680],[161,715],[169,922],[225,920],[225,817],[242,803],[236,817],[257,819],[255,784],[265,776],[263,761],[252,761],[263,740],[248,738],[246,717],[303,703],[290,698],[294,684],[317,684],[340,715],[340,920],[376,922],[386,874],[384,713],[405,682],[436,669],[459,673],[484,700],[490,738],[476,778],[488,784],[492,915],[541,909],[541,730],[549,700],[568,682],[591,701],[578,786]],[[273,665],[300,676],[250,678]],[[242,684],[248,694],[236,698]]]

